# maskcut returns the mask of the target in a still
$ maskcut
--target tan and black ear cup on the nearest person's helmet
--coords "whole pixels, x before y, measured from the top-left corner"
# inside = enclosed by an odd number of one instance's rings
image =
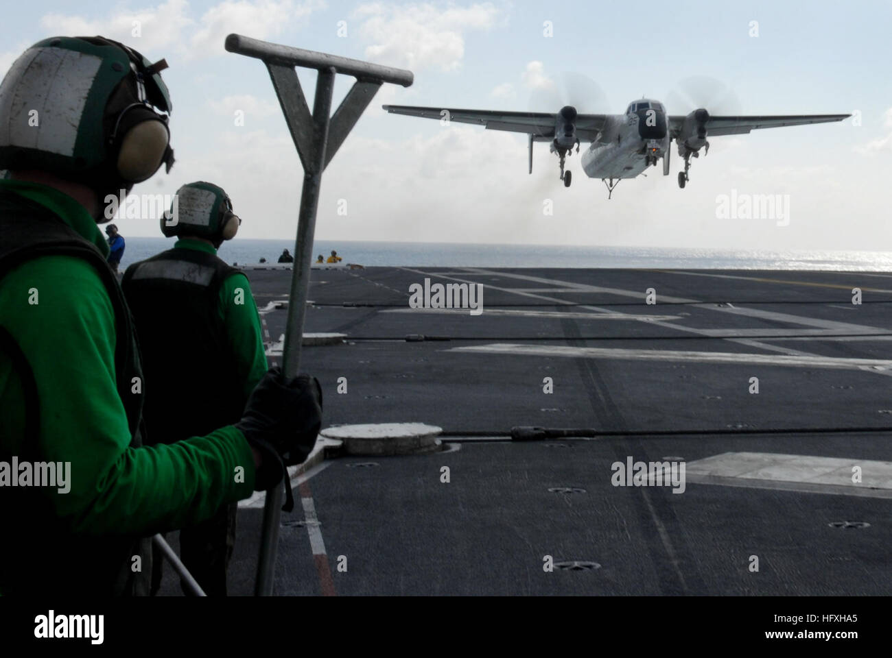
[[[160,115],[143,106],[131,106],[119,121],[116,167],[121,178],[141,183],[161,167],[168,151],[170,132]]]

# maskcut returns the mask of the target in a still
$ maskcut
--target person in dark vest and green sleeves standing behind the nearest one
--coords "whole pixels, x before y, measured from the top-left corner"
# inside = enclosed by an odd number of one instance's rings
[[[235,424],[267,372],[260,317],[244,274],[217,256],[242,220],[219,186],[197,182],[177,191],[173,249],[127,268],[121,286],[133,311],[144,357],[149,442],[173,443]],[[171,327],[184,327],[171,333]],[[208,596],[226,596],[235,546],[235,502],[179,533],[180,555]],[[154,559],[153,593],[161,585]],[[185,588],[184,588],[185,590]]]

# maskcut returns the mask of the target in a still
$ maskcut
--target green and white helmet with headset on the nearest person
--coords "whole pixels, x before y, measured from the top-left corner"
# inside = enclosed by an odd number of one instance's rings
[[[169,171],[165,68],[104,37],[32,45],[0,84],[0,169],[52,172],[102,196]]]

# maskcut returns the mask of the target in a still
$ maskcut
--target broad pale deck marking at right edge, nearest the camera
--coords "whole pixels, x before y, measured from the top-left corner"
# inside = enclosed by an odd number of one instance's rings
[[[853,482],[855,466],[861,482]],[[725,452],[689,462],[686,480],[755,489],[892,498],[892,462],[772,452]]]

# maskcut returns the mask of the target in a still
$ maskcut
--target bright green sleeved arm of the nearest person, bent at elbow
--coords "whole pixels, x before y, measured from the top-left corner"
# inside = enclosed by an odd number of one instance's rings
[[[4,279],[0,308],[37,381],[40,458],[70,462],[70,490],[45,489],[57,517],[84,534],[149,535],[210,518],[247,498],[255,455],[233,426],[170,445],[129,448],[115,386],[115,318],[80,259],[30,261]],[[39,302],[29,305],[36,288]]]

